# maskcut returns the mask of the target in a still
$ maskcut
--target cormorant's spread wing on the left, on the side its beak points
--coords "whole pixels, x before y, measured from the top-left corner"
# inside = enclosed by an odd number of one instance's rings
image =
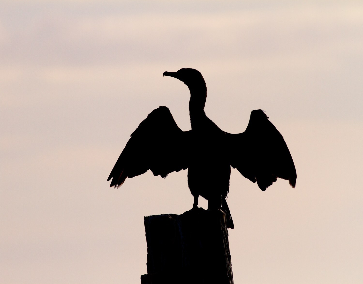
[[[132,132],[108,181],[110,187],[119,187],[131,178],[151,170],[154,176],[188,168],[188,141],[190,131],[182,131],[167,107],[153,110]]]

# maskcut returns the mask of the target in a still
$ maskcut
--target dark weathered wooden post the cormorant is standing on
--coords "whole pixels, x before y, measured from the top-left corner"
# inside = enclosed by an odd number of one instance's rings
[[[203,208],[144,218],[147,274],[142,284],[232,284],[226,217]]]

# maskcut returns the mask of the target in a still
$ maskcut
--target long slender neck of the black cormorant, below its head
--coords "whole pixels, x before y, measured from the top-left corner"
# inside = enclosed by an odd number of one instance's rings
[[[204,112],[205,100],[207,99],[207,87],[205,83],[188,86],[190,90],[189,115],[192,128],[202,126],[207,116]]]

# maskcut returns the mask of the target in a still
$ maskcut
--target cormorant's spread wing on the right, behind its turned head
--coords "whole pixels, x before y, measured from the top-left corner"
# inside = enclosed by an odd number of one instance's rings
[[[265,191],[277,178],[295,188],[296,170],[284,137],[262,110],[253,110],[245,132],[227,133],[231,166]]]

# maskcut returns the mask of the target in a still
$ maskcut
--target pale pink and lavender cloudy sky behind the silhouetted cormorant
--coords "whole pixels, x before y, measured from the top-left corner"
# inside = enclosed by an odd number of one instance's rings
[[[143,217],[191,209],[187,171],[106,179],[154,108],[190,129],[181,67],[221,129],[265,110],[297,169],[232,170],[234,282],[363,283],[363,4],[316,2],[3,1],[0,283],[140,283]]]

